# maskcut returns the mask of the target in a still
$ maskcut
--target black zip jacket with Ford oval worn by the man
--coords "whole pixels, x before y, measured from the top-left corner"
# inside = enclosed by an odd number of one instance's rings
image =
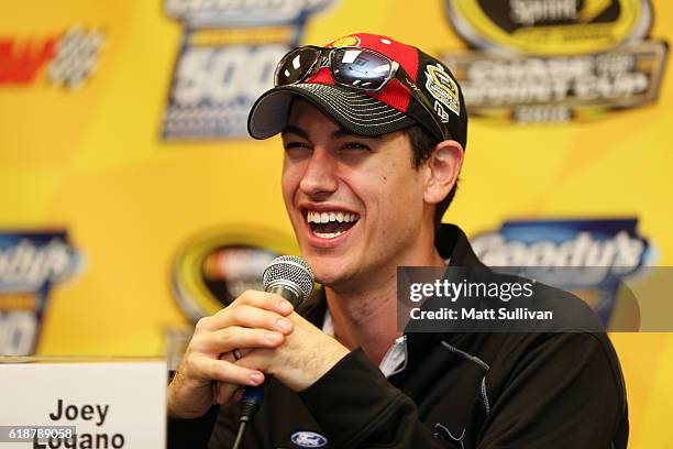
[[[454,226],[437,248],[451,265],[481,265]],[[302,307],[318,327],[324,311],[323,295]],[[219,408],[169,419],[168,447],[230,448],[240,407]],[[408,333],[390,379],[354,350],[299,394],[272,380],[243,448],[302,447],[302,431],[324,448],[626,448],[628,419],[604,333]]]

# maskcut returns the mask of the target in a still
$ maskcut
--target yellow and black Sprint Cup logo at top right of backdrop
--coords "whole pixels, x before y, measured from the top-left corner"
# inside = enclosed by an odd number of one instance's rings
[[[471,114],[516,122],[593,119],[654,102],[668,43],[648,39],[648,0],[445,0],[475,48],[442,59]]]

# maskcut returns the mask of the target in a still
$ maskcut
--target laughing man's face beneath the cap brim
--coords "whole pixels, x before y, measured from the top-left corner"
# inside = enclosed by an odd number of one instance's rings
[[[406,134],[354,135],[296,100],[283,143],[285,206],[318,282],[357,288],[413,260],[428,206]]]

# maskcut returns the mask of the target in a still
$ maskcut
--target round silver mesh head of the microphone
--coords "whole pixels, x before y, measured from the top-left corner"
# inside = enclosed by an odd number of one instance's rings
[[[313,292],[313,272],[304,259],[296,255],[280,255],[274,259],[264,270],[262,278],[266,292],[276,285],[283,285],[295,291],[299,302],[308,298]]]

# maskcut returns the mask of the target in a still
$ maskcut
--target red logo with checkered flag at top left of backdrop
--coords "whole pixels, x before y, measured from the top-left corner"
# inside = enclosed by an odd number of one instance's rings
[[[102,32],[80,26],[43,36],[0,37],[0,88],[44,79],[76,90],[96,70],[103,43]]]

